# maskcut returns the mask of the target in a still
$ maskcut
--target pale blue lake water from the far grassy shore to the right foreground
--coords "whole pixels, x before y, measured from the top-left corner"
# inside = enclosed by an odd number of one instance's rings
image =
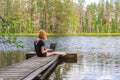
[[[18,37],[23,41],[23,49],[16,49],[9,44],[0,44],[0,49],[33,51],[35,38]],[[77,53],[78,61],[58,66],[49,80],[120,80],[119,36],[54,36],[48,37],[45,46],[48,48],[52,42],[57,43],[57,51]]]

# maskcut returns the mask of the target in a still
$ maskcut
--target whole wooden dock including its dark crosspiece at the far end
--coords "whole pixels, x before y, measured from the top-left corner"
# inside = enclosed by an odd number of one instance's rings
[[[27,60],[0,69],[0,80],[32,80],[39,75],[40,80],[45,80],[60,60],[77,62],[77,54],[68,54],[65,57],[52,55],[37,57],[35,52],[26,54]]]

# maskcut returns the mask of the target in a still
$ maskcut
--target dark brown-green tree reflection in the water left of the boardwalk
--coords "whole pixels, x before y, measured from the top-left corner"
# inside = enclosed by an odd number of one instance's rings
[[[25,60],[25,52],[22,51],[0,51],[0,68]]]

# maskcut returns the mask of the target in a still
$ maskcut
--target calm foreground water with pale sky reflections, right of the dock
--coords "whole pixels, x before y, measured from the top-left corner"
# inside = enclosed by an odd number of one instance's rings
[[[48,80],[120,80],[120,54],[78,54],[77,63],[57,67]]]

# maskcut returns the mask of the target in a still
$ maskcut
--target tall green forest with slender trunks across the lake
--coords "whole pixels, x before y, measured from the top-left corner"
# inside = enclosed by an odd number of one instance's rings
[[[0,34],[119,33],[120,1],[0,0]]]

